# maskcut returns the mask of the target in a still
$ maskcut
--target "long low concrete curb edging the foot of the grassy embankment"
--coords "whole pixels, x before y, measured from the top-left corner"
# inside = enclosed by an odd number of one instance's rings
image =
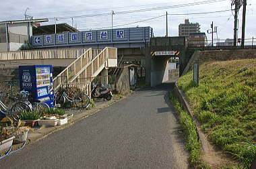
[[[210,151],[210,145],[209,145],[207,139],[205,138],[205,136],[203,135],[203,133],[200,129],[200,125],[197,122],[197,119],[195,119],[195,117],[193,117],[193,110],[191,109],[189,103],[185,99],[185,93],[183,93],[183,91],[178,89],[177,82],[175,82],[175,85],[174,85],[174,95],[175,95],[175,97],[177,97],[179,103],[181,103],[183,109],[185,109],[185,111],[189,112],[189,115],[191,116],[191,118],[195,122],[195,127],[197,129],[197,135],[198,135],[199,140],[202,144],[203,153],[207,152],[207,151]]]

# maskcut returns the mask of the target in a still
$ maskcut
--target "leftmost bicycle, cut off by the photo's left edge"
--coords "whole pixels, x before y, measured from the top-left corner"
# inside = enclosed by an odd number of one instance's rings
[[[2,96],[5,92],[0,92],[0,96]],[[9,93],[6,93],[7,95]],[[32,111],[32,105],[29,101],[17,101],[17,97],[10,96],[9,99],[15,101],[15,103],[11,107],[7,107],[1,100],[0,100],[0,112],[12,117],[15,121],[20,119],[20,113],[25,111]]]

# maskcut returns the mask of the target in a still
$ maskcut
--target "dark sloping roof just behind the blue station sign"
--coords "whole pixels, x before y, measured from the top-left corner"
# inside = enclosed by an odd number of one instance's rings
[[[78,30],[75,29],[75,27],[68,25],[67,23],[56,24],[56,33],[59,34],[63,32],[78,32]],[[33,27],[33,35],[42,34],[55,34],[55,24]]]

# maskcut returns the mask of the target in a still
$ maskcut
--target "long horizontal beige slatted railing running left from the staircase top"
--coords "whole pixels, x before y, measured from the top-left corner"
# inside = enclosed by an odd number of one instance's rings
[[[16,52],[0,52],[0,60],[24,59],[76,59],[86,52],[81,49],[55,49],[55,50],[24,50]],[[97,52],[97,51],[96,51]]]

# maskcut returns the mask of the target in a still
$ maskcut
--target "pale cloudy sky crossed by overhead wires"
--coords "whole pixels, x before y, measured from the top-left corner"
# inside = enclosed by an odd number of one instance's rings
[[[201,5],[198,5],[200,3]],[[8,0],[1,1],[0,21],[24,19],[24,13],[27,8],[29,9],[26,14],[33,16],[34,19],[49,18],[49,22],[42,23],[43,25],[55,23],[55,17],[58,18],[57,23],[72,25],[71,17],[73,17],[73,26],[76,26],[81,31],[107,29],[105,27],[111,28],[111,17],[113,16],[113,28],[150,26],[153,28],[154,36],[165,36],[166,11],[168,13],[168,36],[179,36],[179,24],[184,23],[185,19],[189,19],[191,23],[199,23],[201,32],[205,32],[205,34],[207,34],[207,30],[210,30],[210,24],[213,21],[214,26],[218,27],[218,34],[214,34],[215,40],[217,36],[220,40],[232,38],[234,29],[231,0]],[[120,13],[154,8],[158,10]],[[255,10],[256,1],[247,0],[245,38],[256,37]],[[111,15],[112,11],[114,11],[114,15]],[[214,11],[223,12],[207,13]],[[95,16],[95,14],[102,13],[105,15]],[[191,13],[203,14],[192,15]],[[243,7],[238,13],[238,38],[241,38],[242,13]],[[211,35],[207,34],[207,38],[210,40]]]

